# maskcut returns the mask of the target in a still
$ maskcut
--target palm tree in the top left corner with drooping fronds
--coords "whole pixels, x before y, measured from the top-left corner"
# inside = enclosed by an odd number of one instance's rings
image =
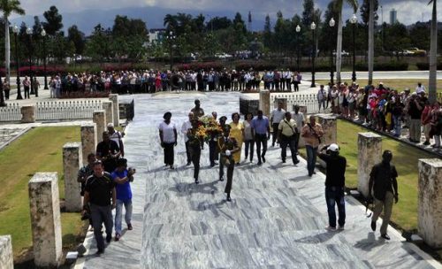
[[[6,68],[6,80],[11,81],[11,43],[9,39],[9,21],[11,13],[25,15],[25,10],[21,8],[19,0],[0,0],[0,11],[4,17],[4,62]]]

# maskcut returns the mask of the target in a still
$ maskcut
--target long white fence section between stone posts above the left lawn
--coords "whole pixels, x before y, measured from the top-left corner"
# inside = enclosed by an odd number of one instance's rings
[[[102,102],[99,100],[37,102],[35,119],[92,119],[94,111],[102,109]]]

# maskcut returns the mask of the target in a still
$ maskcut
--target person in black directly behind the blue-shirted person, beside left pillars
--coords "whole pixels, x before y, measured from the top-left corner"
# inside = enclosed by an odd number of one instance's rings
[[[103,141],[96,145],[96,158],[103,162],[104,171],[112,173],[117,168],[120,154],[118,143],[110,139],[109,132],[103,132]]]

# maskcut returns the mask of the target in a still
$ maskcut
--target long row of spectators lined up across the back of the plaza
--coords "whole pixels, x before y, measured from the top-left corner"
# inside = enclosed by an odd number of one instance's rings
[[[112,91],[118,94],[155,93],[166,90],[248,91],[260,88],[298,91],[302,76],[290,70],[263,72],[245,70],[185,70],[185,71],[112,71],[100,73],[67,73],[50,77],[50,96],[77,91]]]

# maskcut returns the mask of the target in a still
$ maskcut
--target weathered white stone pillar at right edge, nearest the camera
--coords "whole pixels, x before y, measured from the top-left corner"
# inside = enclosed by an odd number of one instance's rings
[[[417,229],[423,241],[442,247],[442,160],[419,159]]]

